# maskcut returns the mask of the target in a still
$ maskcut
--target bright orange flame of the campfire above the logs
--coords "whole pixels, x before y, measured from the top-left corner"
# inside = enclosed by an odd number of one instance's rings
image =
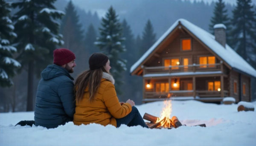
[[[157,122],[160,122],[160,126],[164,128],[169,128],[172,125],[172,120],[169,118],[172,114],[172,102],[171,100],[164,101],[165,107],[161,112],[161,117],[157,118]]]

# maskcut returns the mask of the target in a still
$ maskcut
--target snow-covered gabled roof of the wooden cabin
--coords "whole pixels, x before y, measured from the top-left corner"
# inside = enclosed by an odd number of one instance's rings
[[[237,54],[230,46],[226,44],[226,48],[224,48],[220,43],[215,40],[214,35],[209,32],[201,29],[198,26],[190,23],[185,19],[178,19],[157,41],[151,46],[147,52],[143,54],[140,59],[131,66],[130,72],[134,72],[141,63],[155,50],[157,46],[179,25],[179,22],[182,26],[188,29],[195,37],[198,37],[199,40],[202,41],[209,49],[212,49],[215,54],[221,57],[224,62],[226,62],[233,69],[238,69],[241,72],[249,74],[253,77],[256,77],[256,70],[250,66],[239,54]]]

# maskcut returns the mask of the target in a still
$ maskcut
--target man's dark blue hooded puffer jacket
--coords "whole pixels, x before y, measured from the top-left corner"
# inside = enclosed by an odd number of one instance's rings
[[[73,77],[61,66],[47,66],[41,72],[35,100],[35,126],[55,128],[73,120],[75,98]]]

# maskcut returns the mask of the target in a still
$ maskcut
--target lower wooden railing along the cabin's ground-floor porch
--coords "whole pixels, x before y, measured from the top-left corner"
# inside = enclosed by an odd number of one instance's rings
[[[177,90],[168,92],[145,92],[144,98],[169,98],[169,97],[193,97],[193,90]],[[224,90],[224,97],[228,96],[228,91]],[[219,91],[196,90],[198,97],[221,97]]]

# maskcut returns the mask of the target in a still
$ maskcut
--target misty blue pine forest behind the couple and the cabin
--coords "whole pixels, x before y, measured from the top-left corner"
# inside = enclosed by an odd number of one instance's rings
[[[125,14],[109,6],[99,18],[72,1],[0,0],[0,112],[34,109],[40,73],[52,63],[52,51],[61,47],[76,54],[74,78],[88,69],[90,54],[107,54],[119,100],[141,104],[142,77],[131,76],[130,68],[179,18],[211,33],[214,24],[224,23],[227,43],[256,68],[256,8],[251,0],[237,0],[236,6],[222,0],[209,5],[147,2],[141,0]],[[252,97],[256,98],[253,88]]]

